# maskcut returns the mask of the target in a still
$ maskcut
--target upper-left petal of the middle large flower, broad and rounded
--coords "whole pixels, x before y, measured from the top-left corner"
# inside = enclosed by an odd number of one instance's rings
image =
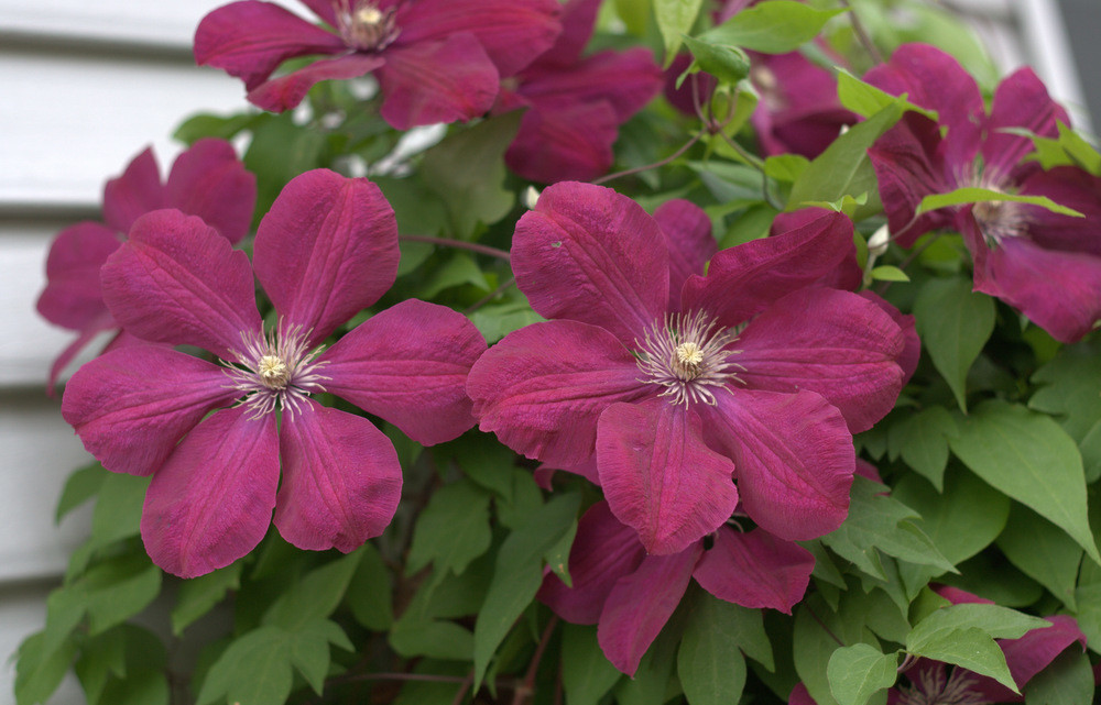
[[[668,261],[653,218],[590,184],[548,187],[512,240],[512,269],[536,312],[600,326],[628,345],[667,310]]]

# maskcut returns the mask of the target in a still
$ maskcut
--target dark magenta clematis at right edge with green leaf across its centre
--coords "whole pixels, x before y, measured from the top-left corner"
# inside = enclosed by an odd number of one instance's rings
[[[934,122],[907,113],[869,151],[897,242],[909,246],[930,230],[958,230],[974,262],[975,290],[1020,309],[1057,340],[1086,335],[1101,318],[1101,179],[1075,167],[1045,172],[1022,161],[1032,141],[1006,129],[1055,136],[1057,122],[1069,124],[1032,69],[999,85],[989,114],[974,79],[931,46],[902,46],[865,79],[891,93],[906,92],[939,115]],[[1000,201],[914,219],[925,196],[961,187],[1047,196],[1086,218]]]

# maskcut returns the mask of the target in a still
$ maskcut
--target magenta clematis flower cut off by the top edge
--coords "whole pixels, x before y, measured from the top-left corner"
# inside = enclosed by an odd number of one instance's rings
[[[207,14],[195,60],[244,80],[264,110],[294,108],[328,79],[374,74],[382,118],[399,130],[487,112],[500,79],[546,51],[560,31],[556,0],[303,0],[331,31],[270,2]],[[297,56],[326,58],[272,78]]]

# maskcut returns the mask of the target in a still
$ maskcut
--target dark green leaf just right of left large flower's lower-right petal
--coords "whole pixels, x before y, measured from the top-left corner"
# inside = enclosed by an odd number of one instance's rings
[[[417,518],[406,572],[434,563],[437,573],[462,573],[489,550],[489,495],[469,480],[440,487]]]

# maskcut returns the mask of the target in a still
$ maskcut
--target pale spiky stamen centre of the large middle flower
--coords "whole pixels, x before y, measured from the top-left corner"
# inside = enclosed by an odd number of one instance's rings
[[[738,371],[744,367],[730,361],[740,351],[727,350],[737,340],[734,331],[702,311],[667,315],[650,327],[642,342],[635,341],[639,370],[645,375],[640,382],[665,387],[658,396],[674,404],[715,406],[717,388],[741,382]]]

